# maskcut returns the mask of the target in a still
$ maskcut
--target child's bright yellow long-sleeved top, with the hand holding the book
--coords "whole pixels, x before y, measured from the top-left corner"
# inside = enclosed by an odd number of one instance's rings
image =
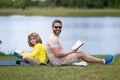
[[[37,43],[33,47],[32,53],[24,52],[21,56],[29,55],[33,58],[38,59],[42,63],[47,63],[47,53],[45,47],[41,43]]]

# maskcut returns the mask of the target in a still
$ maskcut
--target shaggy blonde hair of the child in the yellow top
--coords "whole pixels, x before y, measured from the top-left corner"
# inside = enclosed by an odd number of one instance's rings
[[[41,40],[39,34],[37,34],[37,33],[31,33],[31,34],[28,35],[28,44],[29,44],[30,47],[33,47],[33,46],[34,46],[34,45],[31,44],[31,42],[30,42],[30,38],[31,38],[31,37],[34,37],[34,38],[36,39],[36,41],[37,41],[36,43],[41,43],[41,44],[42,44],[42,40]]]

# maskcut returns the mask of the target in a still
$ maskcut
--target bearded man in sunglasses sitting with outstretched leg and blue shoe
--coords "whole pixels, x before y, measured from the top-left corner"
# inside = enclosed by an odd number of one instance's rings
[[[50,34],[46,49],[50,63],[53,65],[72,64],[78,62],[79,59],[83,59],[86,62],[109,64],[113,61],[114,56],[110,55],[105,59],[96,58],[90,56],[84,52],[77,52],[77,50],[71,50],[64,52],[60,41],[60,33],[62,31],[62,22],[60,20],[54,20],[52,23],[52,33]]]

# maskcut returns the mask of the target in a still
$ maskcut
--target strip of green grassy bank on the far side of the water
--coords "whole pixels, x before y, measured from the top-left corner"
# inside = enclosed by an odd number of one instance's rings
[[[32,8],[0,9],[0,15],[41,16],[120,16],[120,9]]]

